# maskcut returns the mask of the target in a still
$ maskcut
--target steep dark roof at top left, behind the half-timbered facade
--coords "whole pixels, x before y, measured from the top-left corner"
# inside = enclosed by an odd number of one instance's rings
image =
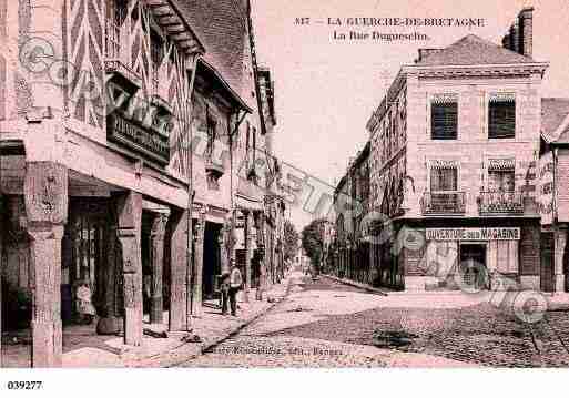
[[[177,1],[177,8],[200,35],[206,50],[204,60],[241,93],[244,51],[250,45],[243,2],[184,0]]]

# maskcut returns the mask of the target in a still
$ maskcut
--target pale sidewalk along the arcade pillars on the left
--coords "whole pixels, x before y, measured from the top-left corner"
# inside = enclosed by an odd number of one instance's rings
[[[193,331],[167,333],[167,338],[154,338],[144,335],[141,347],[123,345],[122,337],[98,336],[93,326],[73,326],[63,330],[63,367],[64,368],[145,368],[172,367],[193,357],[202,355],[212,346],[236,334],[246,325],[264,315],[275,306],[287,293],[289,279],[271,286],[265,299],[255,299],[255,289],[250,293],[250,303],[238,300],[237,317],[223,316],[221,310],[204,303],[203,315],[193,319]],[[153,331],[167,330],[167,313],[164,324],[150,325],[144,328]],[[184,343],[186,336],[197,335],[201,343]],[[6,336],[4,336],[6,337]],[[30,367],[29,330],[17,336],[16,344],[2,344],[2,366],[7,368]]]

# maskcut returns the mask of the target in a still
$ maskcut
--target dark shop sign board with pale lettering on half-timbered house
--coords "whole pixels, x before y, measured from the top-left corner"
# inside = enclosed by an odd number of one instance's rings
[[[158,163],[170,163],[169,139],[153,129],[143,127],[113,113],[106,119],[106,135],[109,141],[124,145]]]

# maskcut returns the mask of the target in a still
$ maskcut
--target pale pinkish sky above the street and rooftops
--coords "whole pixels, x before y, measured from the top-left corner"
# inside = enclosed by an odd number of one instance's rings
[[[419,48],[444,48],[474,33],[500,43],[518,12],[534,6],[534,59],[550,62],[542,94],[569,96],[567,0],[252,0],[257,60],[275,80],[277,133],[284,162],[335,185],[367,141],[366,123],[402,64]],[[311,18],[309,25],[295,24]],[[349,28],[328,18],[482,18],[484,27]],[[321,21],[321,23],[318,23]],[[323,23],[322,23],[323,22]],[[428,41],[338,41],[338,32],[427,34]],[[303,224],[305,221],[298,220]]]

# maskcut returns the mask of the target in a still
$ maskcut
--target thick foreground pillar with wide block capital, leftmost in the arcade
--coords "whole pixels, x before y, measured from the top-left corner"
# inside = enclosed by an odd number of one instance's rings
[[[32,367],[61,367],[61,238],[68,217],[68,170],[26,165],[24,202],[32,273]]]

